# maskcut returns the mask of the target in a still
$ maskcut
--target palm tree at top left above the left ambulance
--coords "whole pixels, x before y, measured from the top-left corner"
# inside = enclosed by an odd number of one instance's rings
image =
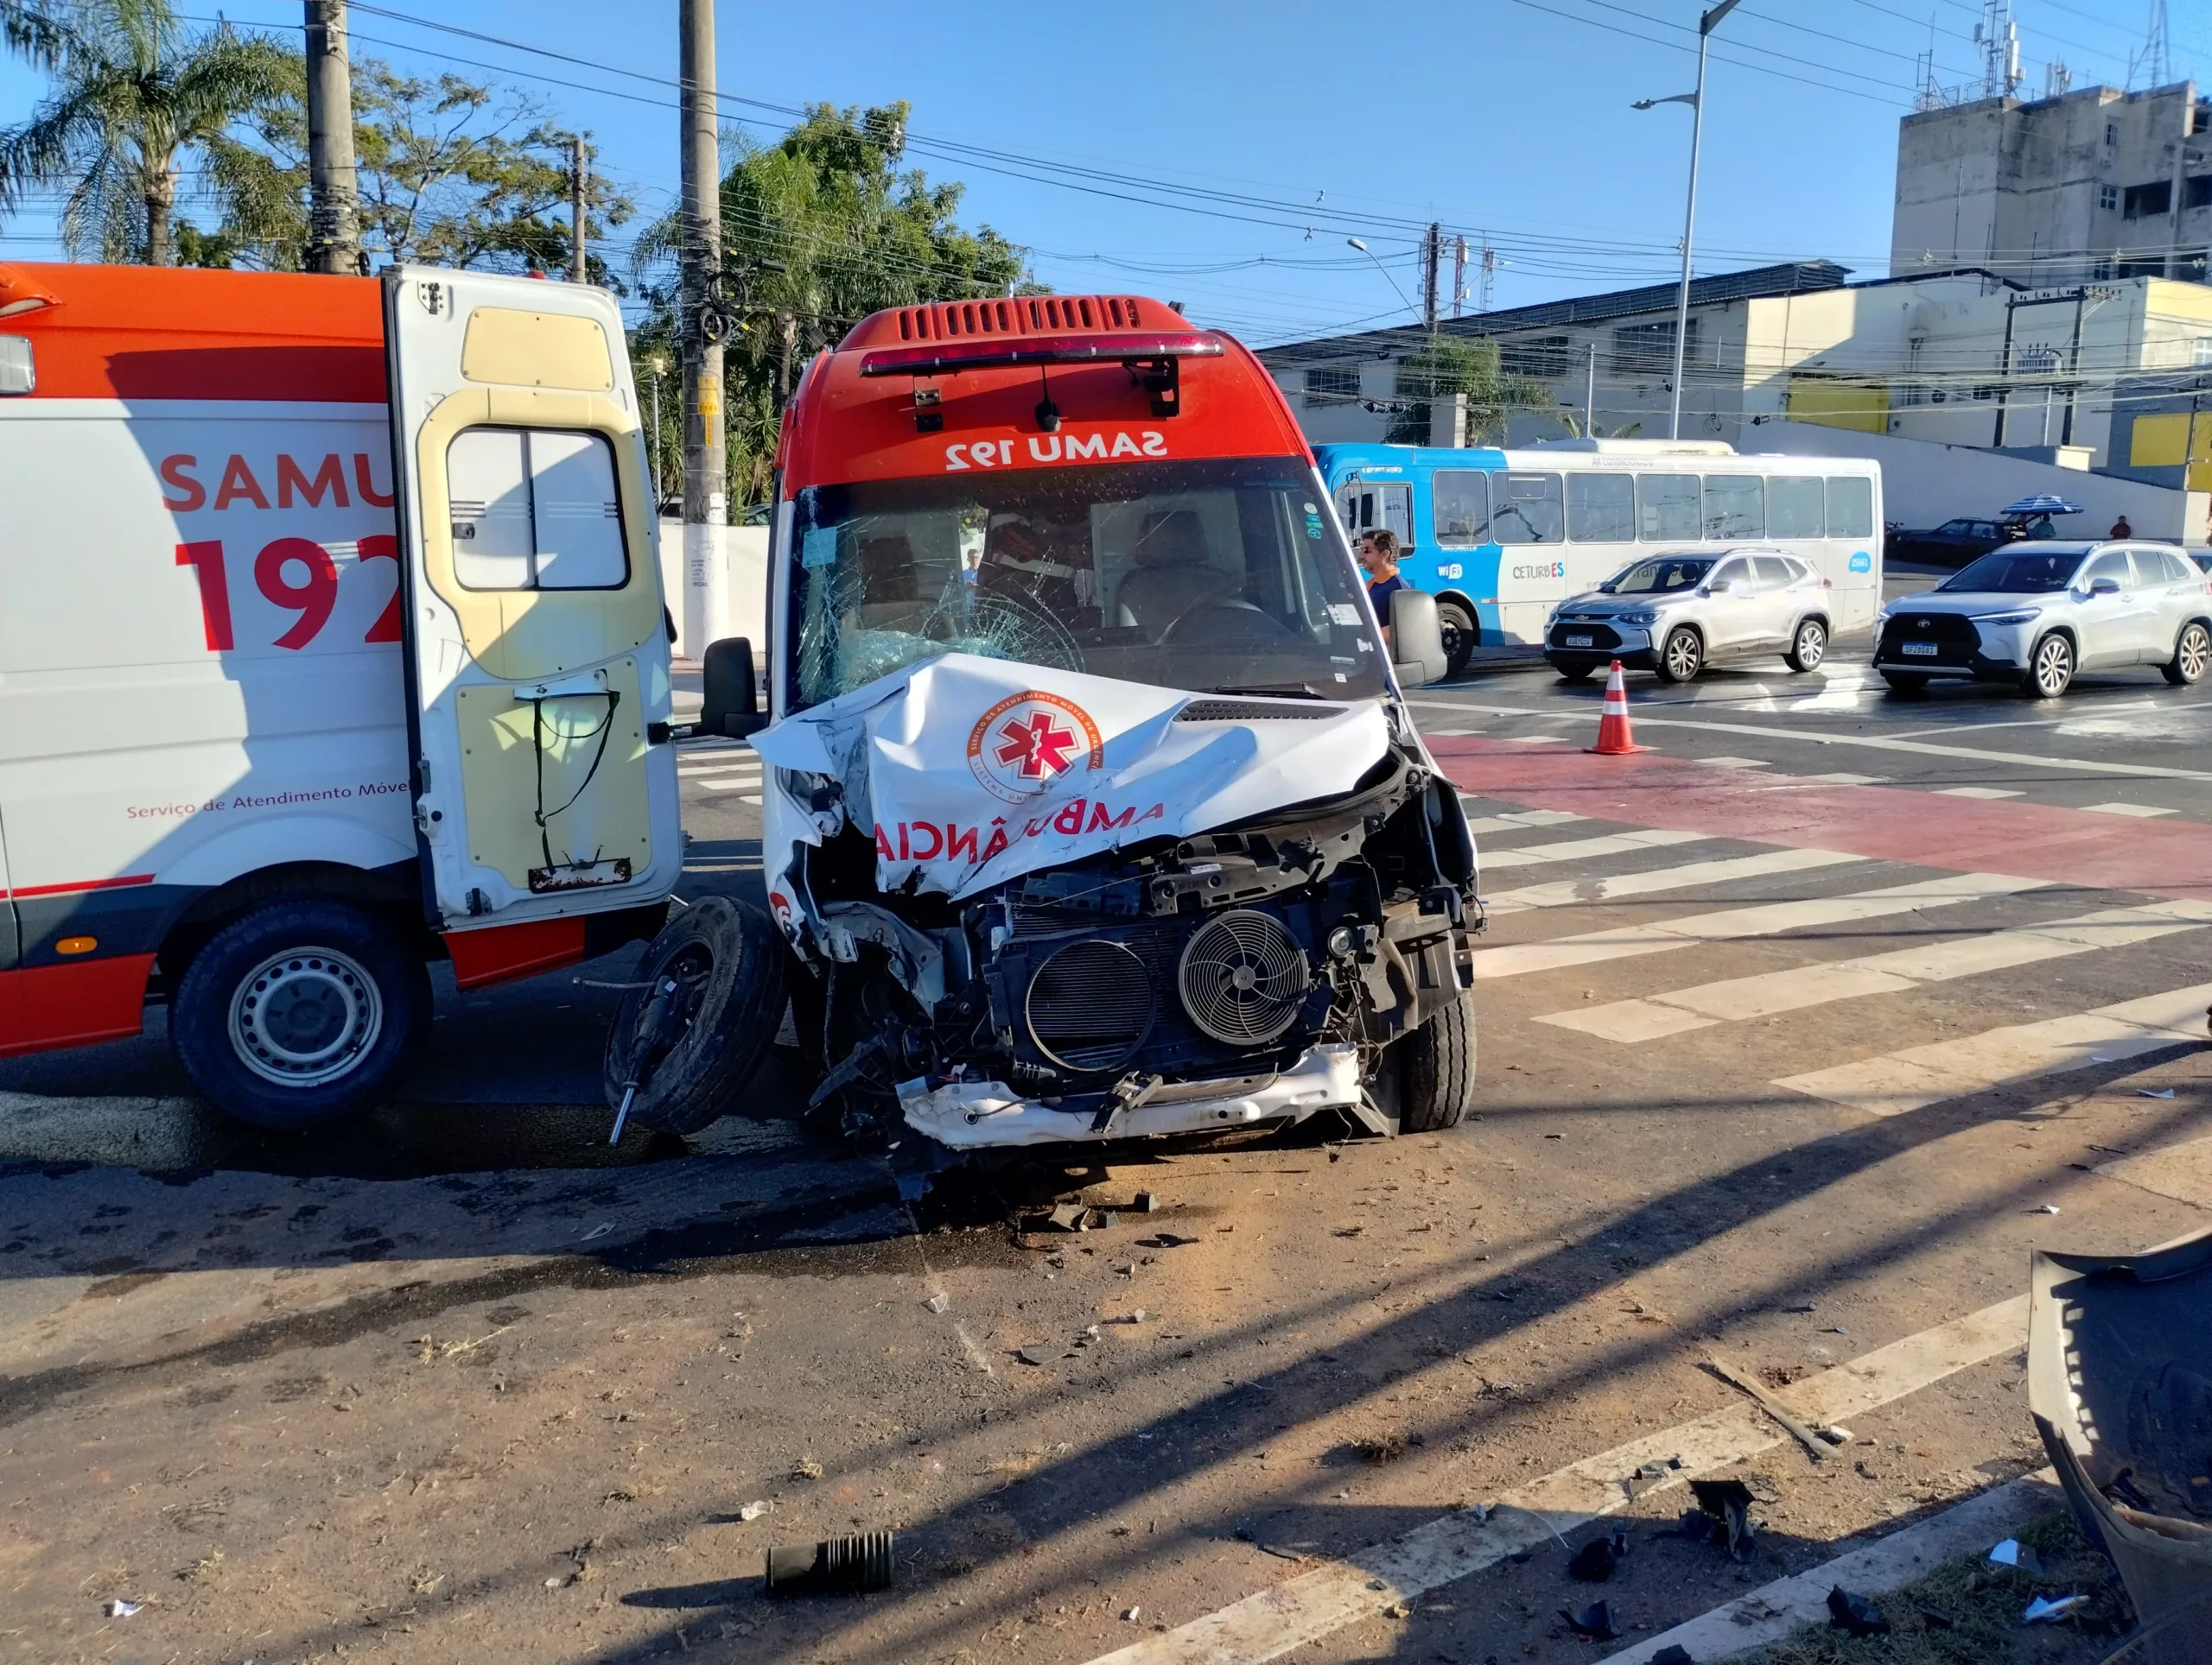
[[[53,77],[0,128],[0,210],[66,184],[71,254],[168,265],[179,161],[299,77],[299,53],[228,22],[188,35],[166,0],[0,0],[0,40]]]

